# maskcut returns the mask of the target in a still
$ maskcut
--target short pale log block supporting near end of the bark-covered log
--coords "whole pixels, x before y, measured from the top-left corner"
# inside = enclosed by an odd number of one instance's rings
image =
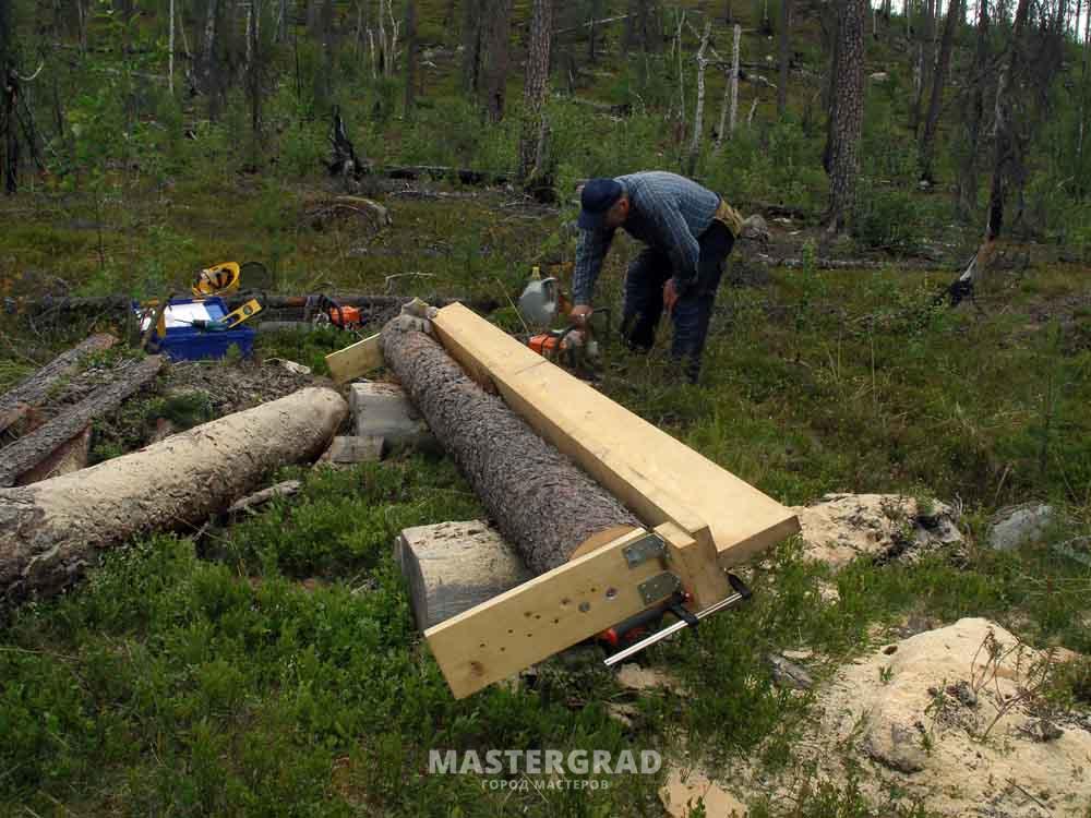
[[[533,578],[518,552],[484,520],[405,529],[395,560],[425,630]]]

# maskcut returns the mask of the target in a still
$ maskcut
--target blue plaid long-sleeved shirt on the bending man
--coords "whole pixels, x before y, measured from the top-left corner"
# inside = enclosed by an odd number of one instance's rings
[[[720,196],[696,182],[663,170],[616,177],[628,195],[628,218],[622,226],[630,236],[667,253],[679,281],[697,275],[700,246],[697,237],[716,215]],[[572,298],[589,304],[602,260],[613,241],[613,230],[582,230],[576,244]]]

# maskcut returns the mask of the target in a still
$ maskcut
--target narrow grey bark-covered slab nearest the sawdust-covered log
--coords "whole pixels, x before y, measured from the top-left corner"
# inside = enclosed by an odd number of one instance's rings
[[[108,414],[154,380],[163,366],[158,356],[115,370],[112,380],[43,426],[0,449],[0,486],[14,485],[21,474],[50,457],[93,420]]]

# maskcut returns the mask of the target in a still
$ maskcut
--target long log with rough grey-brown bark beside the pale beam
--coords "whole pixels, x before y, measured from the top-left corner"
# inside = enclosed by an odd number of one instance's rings
[[[568,562],[594,534],[639,522],[477,385],[443,347],[393,321],[383,357],[454,458],[501,533],[536,575]]]

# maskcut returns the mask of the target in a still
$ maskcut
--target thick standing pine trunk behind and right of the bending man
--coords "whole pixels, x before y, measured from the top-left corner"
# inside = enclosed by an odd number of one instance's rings
[[[864,122],[864,0],[843,0],[838,21],[837,104],[834,106],[827,229],[844,227],[856,199]]]

